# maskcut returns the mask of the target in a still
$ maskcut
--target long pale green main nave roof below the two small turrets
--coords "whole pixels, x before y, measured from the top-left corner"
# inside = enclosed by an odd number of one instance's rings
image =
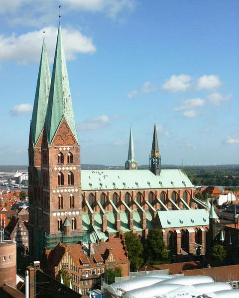
[[[183,170],[161,170],[155,176],[149,170],[82,170],[83,191],[184,189],[193,185]]]

